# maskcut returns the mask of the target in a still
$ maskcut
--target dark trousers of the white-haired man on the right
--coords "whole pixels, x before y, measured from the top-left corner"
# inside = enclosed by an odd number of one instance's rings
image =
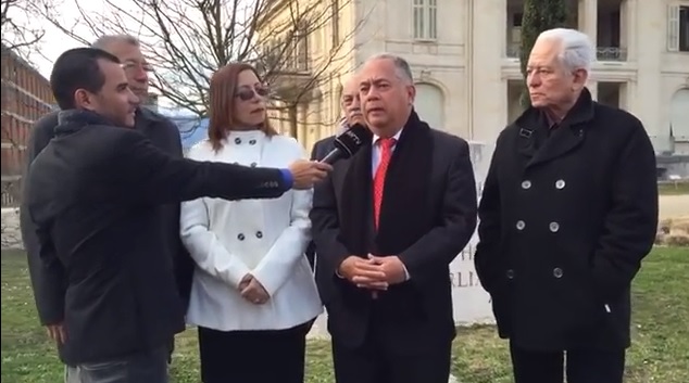
[[[534,352],[511,344],[510,354],[515,383],[563,383],[565,373],[567,383],[622,383],[625,372],[624,348]]]

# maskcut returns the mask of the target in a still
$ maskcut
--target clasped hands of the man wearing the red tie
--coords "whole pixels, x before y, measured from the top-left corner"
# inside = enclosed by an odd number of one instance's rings
[[[396,255],[367,258],[350,255],[340,264],[338,273],[354,283],[358,288],[369,290],[387,290],[391,284],[406,280],[404,264]]]

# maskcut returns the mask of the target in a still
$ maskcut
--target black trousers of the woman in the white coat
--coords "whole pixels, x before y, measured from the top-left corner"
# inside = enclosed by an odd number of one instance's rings
[[[303,383],[306,327],[270,331],[199,328],[203,383]]]

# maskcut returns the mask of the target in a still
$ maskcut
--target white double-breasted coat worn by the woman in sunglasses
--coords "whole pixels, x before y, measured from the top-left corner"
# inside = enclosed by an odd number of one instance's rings
[[[191,148],[197,161],[285,168],[303,158],[292,138],[233,131],[215,153],[208,141]],[[231,180],[227,180],[231,182]],[[273,200],[202,197],[181,204],[181,240],[196,261],[187,321],[221,331],[280,330],[323,310],[304,252],[311,240],[312,190]],[[256,305],[238,285],[251,273],[271,298]]]

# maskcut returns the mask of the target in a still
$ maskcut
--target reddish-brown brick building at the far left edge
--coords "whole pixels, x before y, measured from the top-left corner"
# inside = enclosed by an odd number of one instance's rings
[[[53,108],[50,82],[2,44],[2,206],[17,203],[34,122]]]

